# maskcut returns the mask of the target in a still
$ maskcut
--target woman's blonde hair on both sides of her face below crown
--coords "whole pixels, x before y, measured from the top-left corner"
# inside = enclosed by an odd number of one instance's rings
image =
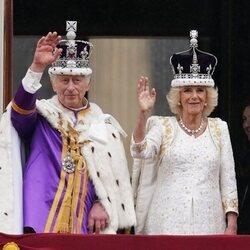
[[[171,112],[178,117],[182,113],[182,106],[180,105],[180,91],[181,87],[171,87],[167,94],[167,101]],[[203,116],[209,116],[218,104],[218,89],[213,87],[206,87],[207,91],[207,105],[204,107]]]

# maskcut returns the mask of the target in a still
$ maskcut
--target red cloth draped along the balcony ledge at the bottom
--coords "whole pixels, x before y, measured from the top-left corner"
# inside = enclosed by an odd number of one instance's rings
[[[6,248],[8,243],[12,248]],[[18,249],[15,244],[21,250],[249,250],[250,236],[0,234],[0,250]]]

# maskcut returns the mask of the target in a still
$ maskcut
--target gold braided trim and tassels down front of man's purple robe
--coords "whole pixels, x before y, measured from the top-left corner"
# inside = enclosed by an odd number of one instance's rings
[[[61,118],[61,117],[60,117]],[[63,129],[62,120],[60,119],[58,130],[61,132],[62,137],[62,161],[69,152],[74,163],[76,165],[73,173],[66,173],[64,169],[61,170],[60,183],[56,196],[54,198],[50,214],[47,220],[45,232],[51,232],[52,222],[55,217],[56,210],[58,210],[58,204],[61,199],[63,187],[66,182],[66,176],[68,176],[67,187],[65,195],[63,197],[62,204],[59,208],[58,216],[55,220],[55,226],[52,232],[55,233],[80,233],[84,204],[87,192],[88,183],[88,171],[86,169],[86,162],[80,153],[78,144],[79,133],[69,124],[68,133]],[[77,218],[77,207],[79,202],[79,194],[81,188],[82,172],[84,171],[84,183],[83,183],[83,197],[80,201],[79,218]],[[78,225],[75,225],[77,221]]]

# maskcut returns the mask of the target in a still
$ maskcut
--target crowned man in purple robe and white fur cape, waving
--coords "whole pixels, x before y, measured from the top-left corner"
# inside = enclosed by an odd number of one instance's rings
[[[132,191],[118,122],[84,96],[92,44],[56,32],[42,37],[12,101],[11,121],[30,153],[23,180],[26,232],[115,233],[135,224]],[[49,74],[56,95],[37,101]]]

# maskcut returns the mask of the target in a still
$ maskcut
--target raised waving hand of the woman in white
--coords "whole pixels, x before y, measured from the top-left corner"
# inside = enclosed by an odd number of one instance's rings
[[[156,91],[154,88],[150,91],[148,77],[141,76],[138,80],[137,100],[142,112],[149,112],[152,110],[156,100]]]

